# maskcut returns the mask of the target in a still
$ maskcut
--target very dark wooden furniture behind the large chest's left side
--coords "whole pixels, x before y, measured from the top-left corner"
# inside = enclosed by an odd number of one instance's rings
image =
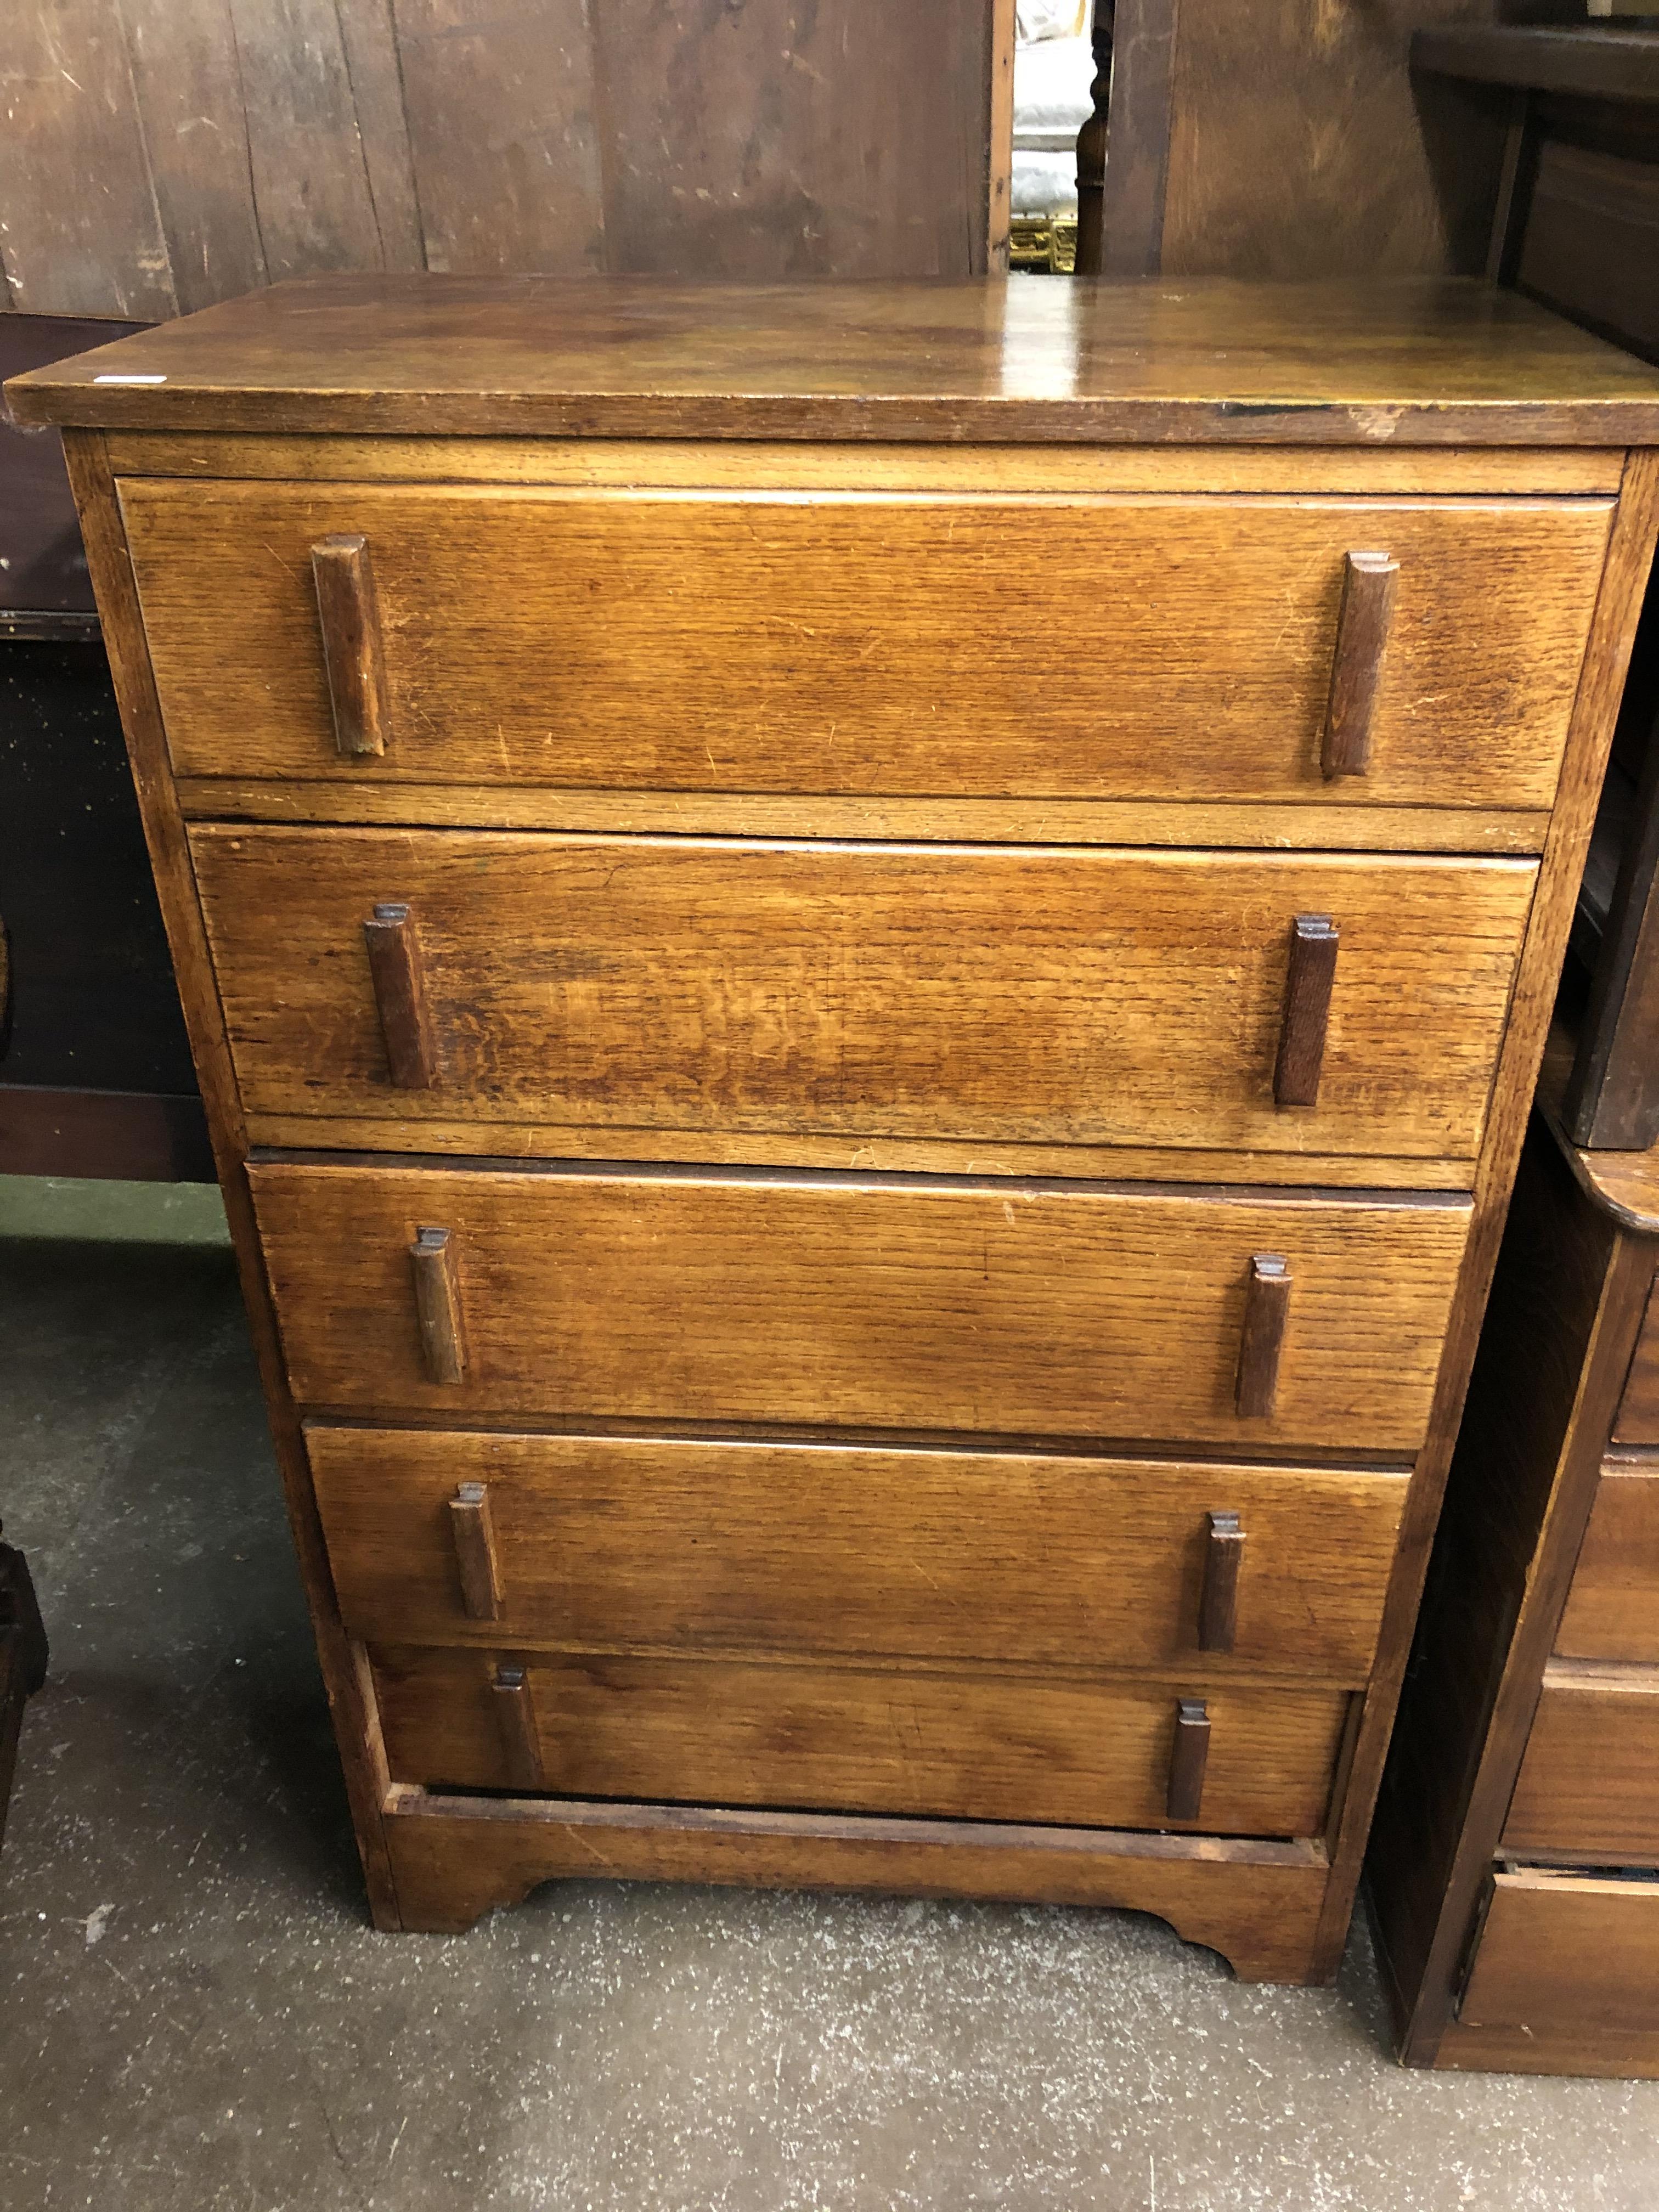
[[[137,325],[0,316],[33,369]],[[55,434],[0,425],[0,1175],[212,1181]]]

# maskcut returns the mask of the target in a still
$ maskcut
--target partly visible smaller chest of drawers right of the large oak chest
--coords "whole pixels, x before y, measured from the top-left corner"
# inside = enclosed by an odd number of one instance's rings
[[[1369,1874],[1407,2062],[1659,2075],[1659,1161],[1557,1042]]]

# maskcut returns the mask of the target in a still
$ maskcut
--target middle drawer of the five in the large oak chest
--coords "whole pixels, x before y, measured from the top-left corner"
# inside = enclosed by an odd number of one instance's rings
[[[1422,1442],[1469,1228],[1462,1201],[1088,1186],[294,1164],[250,1179],[310,1405],[1367,1455]],[[1252,1285],[1256,1254],[1287,1263],[1287,1292],[1261,1270]],[[442,1307],[447,1352],[418,1298]],[[1248,1312],[1263,1411],[1241,1413]]]

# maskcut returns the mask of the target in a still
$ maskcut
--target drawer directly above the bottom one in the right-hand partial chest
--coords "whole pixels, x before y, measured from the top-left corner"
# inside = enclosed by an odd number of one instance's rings
[[[1504,1849],[1659,1865],[1659,1674],[1544,1672]]]

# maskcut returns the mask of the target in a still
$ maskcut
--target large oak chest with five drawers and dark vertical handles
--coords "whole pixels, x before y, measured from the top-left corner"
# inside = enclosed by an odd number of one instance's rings
[[[1473,285],[325,279],[11,392],[376,1920],[1327,1975],[1659,380]]]

